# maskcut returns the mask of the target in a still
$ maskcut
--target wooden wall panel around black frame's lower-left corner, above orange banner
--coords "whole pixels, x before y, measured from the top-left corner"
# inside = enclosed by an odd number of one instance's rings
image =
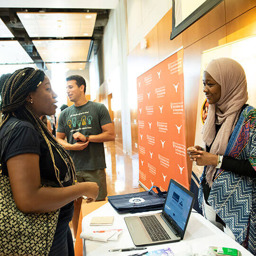
[[[170,40],[172,31],[172,8],[157,23],[159,60],[162,61],[179,47],[183,46],[182,35]]]

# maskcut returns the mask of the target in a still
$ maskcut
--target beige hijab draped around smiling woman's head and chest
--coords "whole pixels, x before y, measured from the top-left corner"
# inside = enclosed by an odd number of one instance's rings
[[[248,100],[246,75],[242,66],[229,58],[212,60],[205,71],[221,86],[221,96],[216,104],[209,105],[202,128],[203,141],[207,146],[212,143],[211,154],[224,155],[241,108]],[[215,124],[221,124],[217,135]],[[214,165],[206,167],[206,181],[210,187],[215,172]]]

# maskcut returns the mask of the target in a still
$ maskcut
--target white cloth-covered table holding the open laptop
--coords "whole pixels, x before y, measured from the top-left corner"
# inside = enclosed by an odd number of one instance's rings
[[[161,212],[161,210],[136,214],[119,214],[116,210],[114,210],[109,202],[101,206],[99,209],[94,210],[82,219],[82,231],[102,230],[102,226],[90,227],[92,217],[114,216],[113,226],[104,226],[104,229],[123,229],[123,233],[120,235],[119,241],[110,241],[105,243],[85,240],[83,243],[86,245],[86,256],[127,256],[130,254],[143,252],[142,250],[130,252],[109,252],[109,249],[134,247],[130,233],[125,224],[124,217],[131,215],[146,215],[156,212]],[[183,240],[176,243],[145,247],[147,247],[146,251],[154,251],[157,249],[170,247],[175,256],[192,256],[193,254],[197,254],[197,256],[207,256],[209,246],[236,248],[241,251],[242,256],[252,256],[252,254],[244,247],[240,246],[235,240],[227,236],[197,212],[191,213]],[[85,250],[83,255],[85,255]]]

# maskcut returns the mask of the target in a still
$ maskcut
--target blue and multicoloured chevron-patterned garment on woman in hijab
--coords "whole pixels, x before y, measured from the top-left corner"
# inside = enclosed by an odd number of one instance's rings
[[[256,171],[256,109],[247,106],[229,139],[225,155],[248,159]],[[204,172],[201,176],[204,176]],[[203,210],[203,192],[199,187],[199,206]],[[236,241],[256,255],[256,178],[217,169],[208,198],[216,214],[228,225]]]

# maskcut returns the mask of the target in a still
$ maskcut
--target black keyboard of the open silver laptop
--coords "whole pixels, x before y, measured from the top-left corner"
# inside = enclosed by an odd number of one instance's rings
[[[153,242],[171,239],[155,215],[139,216],[139,219]]]

